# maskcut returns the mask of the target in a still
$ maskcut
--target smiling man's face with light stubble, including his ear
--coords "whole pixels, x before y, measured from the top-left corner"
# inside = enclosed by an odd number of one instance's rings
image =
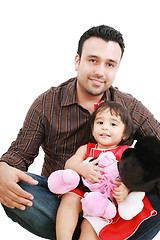
[[[87,39],[81,58],[75,57],[77,91],[93,96],[104,93],[113,83],[121,60],[122,51],[118,43],[100,38]]]

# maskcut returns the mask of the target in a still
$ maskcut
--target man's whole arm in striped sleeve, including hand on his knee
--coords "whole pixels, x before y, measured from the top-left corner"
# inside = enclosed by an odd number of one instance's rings
[[[5,206],[21,210],[32,206],[34,197],[21,189],[18,182],[38,183],[21,170],[26,171],[33,162],[43,139],[42,108],[40,99],[37,99],[28,111],[16,141],[0,159],[0,202]]]

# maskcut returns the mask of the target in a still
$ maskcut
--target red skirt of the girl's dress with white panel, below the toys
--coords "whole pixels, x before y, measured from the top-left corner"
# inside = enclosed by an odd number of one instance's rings
[[[84,192],[81,188],[74,189],[71,192],[82,198],[84,197]],[[131,220],[124,220],[118,213],[113,219],[109,220],[88,215],[84,215],[84,218],[90,222],[101,240],[124,240],[132,236],[143,221],[157,214],[146,196],[143,199],[143,203],[142,211]]]

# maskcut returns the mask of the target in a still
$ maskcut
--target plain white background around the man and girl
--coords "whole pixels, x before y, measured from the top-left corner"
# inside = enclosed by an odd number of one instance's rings
[[[0,155],[16,138],[33,100],[76,76],[79,37],[100,24],[125,39],[114,86],[141,100],[160,121],[158,0],[0,0]],[[29,170],[40,174],[42,162],[40,151]],[[12,223],[2,207],[0,226],[3,239],[39,239]]]

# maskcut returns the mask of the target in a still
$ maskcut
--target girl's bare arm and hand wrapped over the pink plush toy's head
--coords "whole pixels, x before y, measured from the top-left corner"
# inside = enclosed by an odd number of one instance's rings
[[[65,169],[69,168],[76,171],[80,176],[83,176],[90,182],[99,182],[100,181],[99,179],[102,179],[102,175],[97,171],[104,172],[104,170],[96,166],[96,163],[98,163],[99,161],[98,159],[83,164],[82,162],[85,159],[86,152],[87,145],[83,145],[80,148],[78,148],[77,152],[67,160],[65,164]]]

